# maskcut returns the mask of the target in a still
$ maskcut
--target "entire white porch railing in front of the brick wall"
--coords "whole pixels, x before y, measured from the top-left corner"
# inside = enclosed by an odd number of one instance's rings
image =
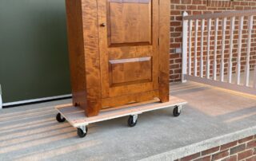
[[[183,13],[182,82],[186,80],[196,81],[256,95],[255,61],[251,61],[254,63],[253,65],[250,64],[252,32],[254,31],[254,33],[256,33],[256,26],[253,28],[254,15],[256,15],[256,10],[231,11],[194,16],[189,16],[186,12]],[[219,26],[220,21],[221,26]],[[198,29],[199,22],[201,29]],[[206,31],[205,25],[207,26]],[[214,25],[213,30],[212,25]],[[227,30],[227,26],[229,30]],[[243,28],[244,26],[246,26],[245,29]],[[221,32],[219,32],[218,29],[221,29]],[[200,41],[198,41],[198,33],[201,33],[201,35],[199,35]],[[204,36],[205,33],[206,36]],[[221,33],[221,35],[219,35],[219,33]],[[226,33],[229,33],[227,35],[229,36],[228,39],[226,38]],[[235,50],[233,43],[234,33],[238,36],[236,37],[238,40],[235,40]],[[242,41],[245,35],[246,40]],[[254,37],[254,39],[255,38],[256,37]],[[254,43],[256,43],[255,40],[253,41]],[[246,44],[242,45],[242,42],[245,41]],[[198,45],[200,45],[200,48],[198,48]],[[229,45],[229,48],[226,47],[227,45]],[[246,48],[246,52],[243,52],[242,47]],[[200,49],[199,57],[198,49]],[[218,55],[218,51],[220,51],[220,55]],[[226,51],[228,51],[228,53]],[[226,54],[228,55],[227,58],[225,57]],[[245,59],[242,59],[244,57]],[[236,60],[234,58],[236,58]],[[198,61],[200,61],[200,63],[198,63]],[[243,64],[245,63],[243,66],[245,68],[243,69],[242,61],[245,61],[243,62]],[[225,66],[225,64],[227,64],[227,66]],[[234,66],[234,64],[236,65]],[[250,76],[250,74],[253,76]],[[244,77],[243,79],[241,79],[242,76]]]

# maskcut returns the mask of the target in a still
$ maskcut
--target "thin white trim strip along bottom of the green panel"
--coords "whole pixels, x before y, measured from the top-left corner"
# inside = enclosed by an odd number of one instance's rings
[[[27,104],[27,103],[33,103],[33,102],[38,102],[38,101],[43,101],[43,100],[54,100],[54,99],[65,98],[65,97],[68,97],[68,96],[72,96],[72,94],[66,94],[66,95],[61,95],[61,96],[49,96],[49,97],[43,97],[43,98],[37,98],[37,99],[31,99],[31,100],[20,100],[20,101],[15,101],[15,102],[8,102],[8,103],[2,104],[2,106]],[[0,95],[0,107],[1,107],[1,95]]]

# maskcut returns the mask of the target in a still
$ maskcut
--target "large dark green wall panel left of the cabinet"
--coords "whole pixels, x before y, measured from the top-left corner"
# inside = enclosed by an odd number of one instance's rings
[[[3,102],[70,93],[64,0],[0,1]]]

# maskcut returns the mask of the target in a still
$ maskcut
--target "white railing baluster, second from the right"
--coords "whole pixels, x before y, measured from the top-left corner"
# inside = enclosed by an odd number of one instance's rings
[[[240,75],[241,75],[241,49],[242,49],[242,29],[243,29],[243,19],[241,16],[239,18],[239,27],[238,27],[238,60],[237,60],[237,84],[240,84]]]

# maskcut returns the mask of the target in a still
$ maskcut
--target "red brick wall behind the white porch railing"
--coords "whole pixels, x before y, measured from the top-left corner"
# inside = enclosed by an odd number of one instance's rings
[[[223,12],[227,10],[254,10],[256,9],[255,0],[170,0],[170,81],[181,81],[182,73],[182,54],[176,53],[176,49],[182,49],[182,13],[186,11],[189,15],[193,14],[208,14],[215,12]],[[207,21],[206,21],[207,22]],[[220,67],[220,54],[222,45],[222,33],[221,24],[219,21],[218,32],[218,73]],[[246,41],[247,41],[247,18],[245,18],[243,38],[242,38],[242,70],[245,68],[246,60]],[[225,72],[228,68],[228,55],[229,55],[229,36],[230,36],[230,19],[227,21],[226,28],[226,49],[225,49]],[[206,23],[207,25],[207,23]],[[205,31],[206,31],[205,26]],[[198,30],[201,29],[200,22],[198,24]],[[194,37],[193,37],[194,38]],[[194,40],[192,38],[192,40]],[[198,60],[200,56],[200,33],[198,33]],[[206,33],[204,34],[204,40],[206,41]],[[251,43],[251,56],[250,56],[250,68],[254,69],[256,64],[256,16],[254,17],[254,29],[252,31],[252,43]],[[193,45],[194,43],[192,43]],[[204,43],[206,44],[206,42]],[[212,24],[211,42],[210,42],[210,70],[213,69],[213,53],[214,53],[214,22]],[[192,46],[193,47],[193,46]],[[238,53],[238,18],[235,22],[234,31],[234,60],[233,70],[235,71],[236,57]],[[194,55],[194,49],[192,49],[192,56]],[[206,45],[204,46],[204,55],[206,56]],[[206,57],[204,57],[206,61]],[[199,68],[200,61],[198,61]],[[206,65],[206,63],[204,64]],[[205,69],[205,68],[204,68]],[[199,71],[199,70],[198,70]]]

